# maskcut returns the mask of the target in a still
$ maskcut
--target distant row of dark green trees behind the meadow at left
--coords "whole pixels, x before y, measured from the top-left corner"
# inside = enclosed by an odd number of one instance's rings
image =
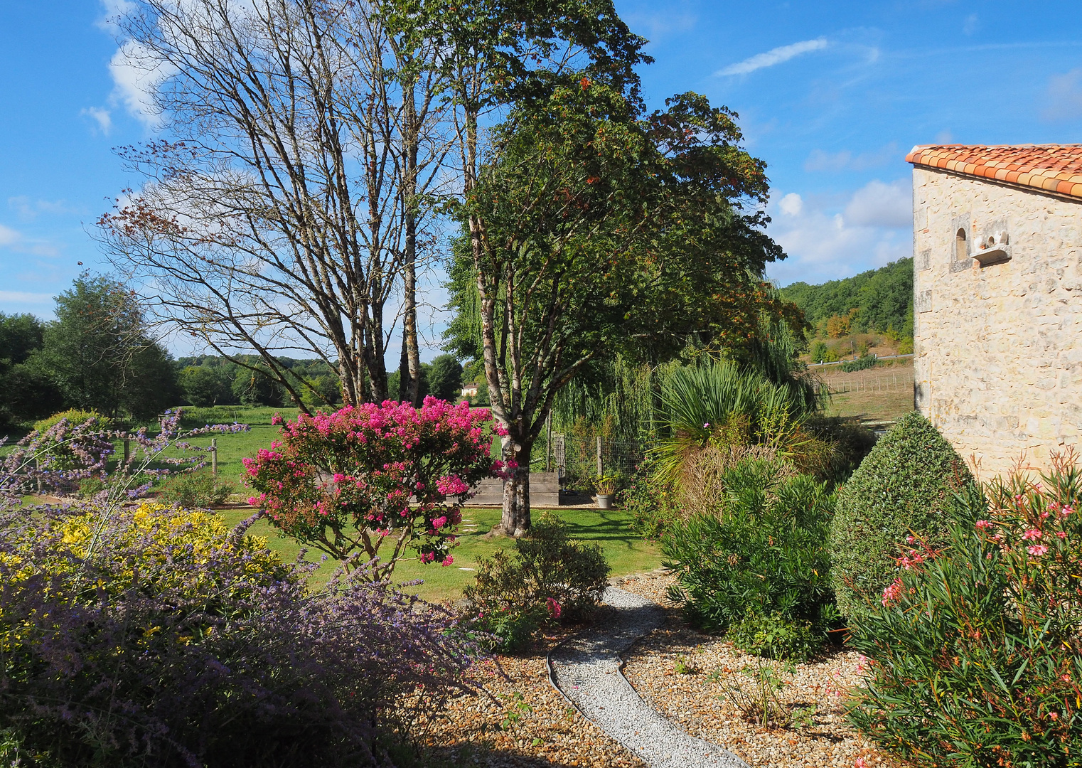
[[[176,406],[292,405],[255,355],[173,359],[151,337],[134,291],[109,277],[79,276],[56,297],[55,316],[45,322],[0,313],[0,429],[66,409],[138,423]],[[342,403],[333,366],[289,357],[276,362],[304,382],[307,408]],[[421,363],[422,397],[454,400],[461,387],[462,366],[453,356]]]

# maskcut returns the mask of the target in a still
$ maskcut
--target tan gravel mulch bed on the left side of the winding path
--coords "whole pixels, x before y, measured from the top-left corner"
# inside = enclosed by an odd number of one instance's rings
[[[545,654],[580,628],[481,662],[471,677],[484,693],[454,696],[431,721],[418,724],[433,757],[448,766],[645,768],[549,683]]]

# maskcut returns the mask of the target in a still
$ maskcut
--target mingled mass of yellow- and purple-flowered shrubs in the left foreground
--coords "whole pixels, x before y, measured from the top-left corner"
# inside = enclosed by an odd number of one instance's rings
[[[0,524],[2,743],[27,764],[387,765],[403,697],[435,706],[472,652],[441,609],[362,567],[312,593],[315,566],[209,513]]]

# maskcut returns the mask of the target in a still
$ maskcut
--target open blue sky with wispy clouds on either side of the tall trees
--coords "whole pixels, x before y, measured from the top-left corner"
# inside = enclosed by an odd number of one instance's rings
[[[1077,0],[617,8],[651,41],[651,107],[697,91],[739,112],[768,164],[781,284],[909,255],[914,144],[1082,142]],[[93,222],[137,184],[113,147],[155,135],[110,66],[105,14],[100,0],[0,2],[0,312],[48,317],[81,269],[105,268]]]

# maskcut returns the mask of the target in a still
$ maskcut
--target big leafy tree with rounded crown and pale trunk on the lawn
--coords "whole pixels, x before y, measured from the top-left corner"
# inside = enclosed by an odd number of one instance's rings
[[[764,165],[734,116],[697,94],[644,116],[610,82],[567,78],[514,109],[463,209],[489,396],[519,466],[501,524],[516,535],[533,443],[591,360],[731,346],[778,304],[762,272],[783,254],[743,212],[766,198]]]

